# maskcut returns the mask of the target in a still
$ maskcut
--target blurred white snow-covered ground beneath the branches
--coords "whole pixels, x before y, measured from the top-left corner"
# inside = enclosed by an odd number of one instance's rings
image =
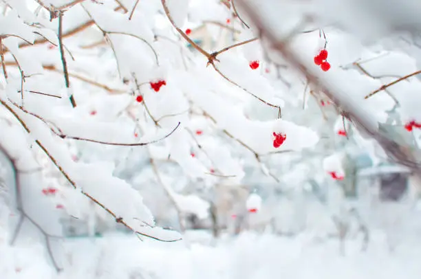
[[[365,253],[360,252],[359,241],[347,243],[345,256],[340,256],[337,241],[315,242],[308,236],[281,238],[247,233],[218,243],[207,236],[190,238],[196,239],[190,247],[184,241],[141,242],[122,235],[74,239],[63,244],[67,265],[60,276],[34,257],[21,265],[19,272],[0,278],[421,278],[420,243],[402,243],[391,254],[380,236],[371,241]],[[199,238],[202,240],[197,241]]]

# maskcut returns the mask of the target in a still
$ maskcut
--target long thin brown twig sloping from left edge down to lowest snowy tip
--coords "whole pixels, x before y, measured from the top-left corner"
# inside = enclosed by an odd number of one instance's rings
[[[0,99],[0,103],[3,104],[3,106],[6,107],[6,109],[8,111],[10,111],[10,113],[12,113],[12,115],[14,115],[14,117],[19,121],[19,123],[23,126],[23,129],[25,129],[25,131],[27,133],[31,133],[31,130],[28,128],[28,125],[21,119],[21,117],[16,113],[16,111],[14,111],[12,109],[12,107],[10,107],[5,101],[3,101],[1,99]],[[79,188],[76,185],[76,182],[74,182],[73,179],[71,177],[69,177],[69,175],[67,174],[67,172],[63,169],[63,167],[60,164],[58,164],[58,161],[56,161],[56,159],[47,150],[47,148],[45,148],[45,146],[39,141],[39,139],[35,139],[35,143],[36,143],[37,146],[39,146],[39,148],[41,148],[41,150],[43,150],[43,153],[45,153],[45,155],[47,155],[47,157],[50,158],[50,160],[52,161],[52,163],[54,164],[54,166],[56,166],[56,168],[58,168],[58,170],[60,170],[61,174],[72,185],[72,187],[75,188],[75,189]],[[167,240],[163,240],[161,238],[155,237],[155,236],[150,236],[149,234],[145,234],[143,232],[138,232],[137,230],[134,230],[133,227],[131,227],[131,225],[129,225],[124,219],[122,219],[120,216],[117,216],[112,210],[110,210],[109,208],[107,208],[107,206],[103,205],[100,201],[98,201],[97,199],[95,199],[94,197],[92,197],[89,193],[87,193],[87,192],[85,192],[83,190],[81,190],[80,193],[83,194],[88,199],[90,199],[91,201],[93,201],[94,203],[96,203],[98,206],[100,206],[100,208],[102,208],[103,210],[105,210],[108,214],[110,214],[111,216],[113,216],[113,218],[116,219],[116,222],[117,223],[121,223],[122,225],[124,225],[125,227],[127,227],[129,230],[131,230],[135,234],[142,235],[142,236],[147,236],[149,238],[155,239],[157,241],[163,241],[163,242],[180,241],[180,238],[167,241]]]

